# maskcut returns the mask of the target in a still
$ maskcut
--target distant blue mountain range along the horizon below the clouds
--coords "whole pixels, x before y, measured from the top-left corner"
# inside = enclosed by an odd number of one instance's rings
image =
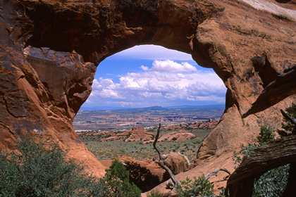
[[[151,106],[147,108],[125,108],[125,107],[113,107],[113,106],[95,106],[95,107],[81,107],[80,111],[95,111],[95,110],[164,110],[164,109],[183,109],[183,108],[225,108],[225,105],[204,105],[204,106]]]

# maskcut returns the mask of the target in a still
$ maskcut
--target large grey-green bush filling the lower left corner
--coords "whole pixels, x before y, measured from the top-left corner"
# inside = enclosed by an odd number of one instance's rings
[[[0,196],[101,196],[105,185],[83,174],[75,160],[66,160],[56,144],[24,135],[16,148],[0,154]]]

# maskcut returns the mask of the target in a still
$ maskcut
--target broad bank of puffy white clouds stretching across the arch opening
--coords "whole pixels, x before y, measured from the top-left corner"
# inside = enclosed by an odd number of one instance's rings
[[[214,72],[199,72],[190,64],[173,61],[154,61],[152,68],[142,69],[145,72],[129,72],[118,83],[106,78],[94,80],[90,100],[112,98],[125,106],[166,106],[174,100],[225,102],[226,87]]]

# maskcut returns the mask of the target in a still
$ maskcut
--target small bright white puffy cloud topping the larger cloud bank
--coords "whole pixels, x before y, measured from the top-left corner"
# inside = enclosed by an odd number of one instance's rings
[[[166,61],[154,61],[152,63],[152,68],[141,65],[142,70],[154,70],[162,72],[192,72],[197,71],[197,68],[190,63],[176,63],[175,61],[166,60]]]

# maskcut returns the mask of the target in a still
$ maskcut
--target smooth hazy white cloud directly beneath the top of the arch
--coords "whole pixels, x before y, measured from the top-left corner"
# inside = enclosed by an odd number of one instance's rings
[[[113,58],[147,59],[147,60],[175,60],[190,61],[192,56],[188,53],[166,49],[163,46],[140,45],[121,51],[112,56]]]

